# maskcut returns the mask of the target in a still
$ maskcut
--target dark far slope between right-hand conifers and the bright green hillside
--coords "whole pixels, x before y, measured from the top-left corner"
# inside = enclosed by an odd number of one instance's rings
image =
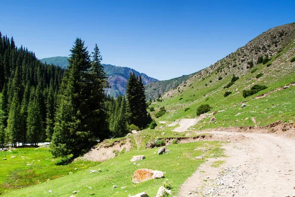
[[[159,95],[162,95],[163,93],[176,88],[179,84],[183,83],[194,74],[196,73],[193,73],[190,75],[183,75],[181,77],[164,80],[164,81],[155,81],[155,82],[151,82],[147,84],[145,86],[145,93],[146,93],[147,100],[158,98]]]

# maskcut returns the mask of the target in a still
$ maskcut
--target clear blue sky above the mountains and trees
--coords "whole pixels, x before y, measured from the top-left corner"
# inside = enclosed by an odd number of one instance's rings
[[[76,37],[104,64],[166,80],[203,69],[266,30],[295,22],[293,0],[7,0],[0,31],[41,58]],[[259,2],[258,2],[259,1]]]

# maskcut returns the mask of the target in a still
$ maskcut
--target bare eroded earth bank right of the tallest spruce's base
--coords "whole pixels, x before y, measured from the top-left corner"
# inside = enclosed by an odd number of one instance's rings
[[[83,158],[94,162],[104,162],[106,160],[116,157],[116,154],[120,153],[123,149],[124,152],[130,151],[132,148],[131,138],[119,139],[114,143],[109,144],[107,141],[99,143],[97,146],[91,148]]]

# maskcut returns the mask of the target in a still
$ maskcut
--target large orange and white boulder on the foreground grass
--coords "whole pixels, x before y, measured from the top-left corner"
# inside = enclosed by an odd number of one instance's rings
[[[151,170],[151,169],[138,169],[134,172],[132,177],[133,183],[141,183],[148,181],[150,179],[155,178],[162,178],[164,176],[164,173],[158,170]]]

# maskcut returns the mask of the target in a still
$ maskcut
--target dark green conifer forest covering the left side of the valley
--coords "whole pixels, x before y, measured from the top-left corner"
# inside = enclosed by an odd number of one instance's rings
[[[2,37],[2,35],[1,35]],[[0,145],[51,141],[54,157],[85,153],[97,140],[147,127],[141,77],[130,74],[126,96],[114,99],[95,44],[89,53],[77,38],[69,66],[42,64],[33,52],[0,39]]]

